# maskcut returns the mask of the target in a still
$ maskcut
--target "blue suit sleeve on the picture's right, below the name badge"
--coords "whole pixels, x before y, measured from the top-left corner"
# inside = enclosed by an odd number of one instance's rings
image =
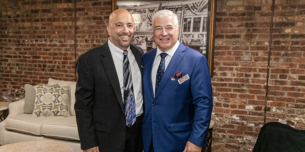
[[[211,76],[205,56],[197,60],[190,79],[195,114],[188,141],[205,147],[213,108]]]

